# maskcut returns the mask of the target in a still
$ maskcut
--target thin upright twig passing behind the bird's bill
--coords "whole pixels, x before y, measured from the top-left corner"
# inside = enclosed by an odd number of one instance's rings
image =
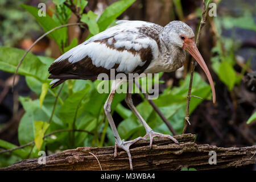
[[[208,3],[207,3],[207,5],[208,5]],[[197,37],[196,37],[196,47],[197,48],[199,47],[199,39],[200,39],[200,35],[201,35],[201,30],[205,25],[205,19],[206,19],[205,13],[207,12],[207,5],[205,4],[205,0],[203,0],[203,12],[202,12],[202,17],[201,17],[199,30],[197,32]],[[183,131],[182,131],[183,134],[187,130],[188,123],[189,123],[189,103],[190,103],[190,100],[191,100],[191,90],[192,90],[192,82],[193,82],[195,67],[196,67],[196,61],[195,61],[195,59],[192,59],[191,76],[190,76],[190,81],[189,81],[187,106],[186,106],[186,113],[185,113],[186,115],[185,115],[185,119],[184,119],[184,128],[183,128]],[[190,123],[189,123],[189,125],[190,125]]]

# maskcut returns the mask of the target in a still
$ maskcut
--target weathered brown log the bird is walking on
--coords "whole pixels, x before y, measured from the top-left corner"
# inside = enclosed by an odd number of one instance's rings
[[[154,138],[152,148],[148,140],[139,140],[130,148],[134,170],[180,170],[184,167],[219,169],[241,167],[256,163],[256,146],[216,147],[209,144],[196,144],[195,135],[183,134],[173,143],[167,138]],[[217,163],[209,164],[210,151],[217,154]],[[39,164],[38,159],[27,159],[14,163],[0,170],[130,170],[127,154],[118,149],[114,159],[114,147],[78,147],[59,154],[46,156],[46,164]]]

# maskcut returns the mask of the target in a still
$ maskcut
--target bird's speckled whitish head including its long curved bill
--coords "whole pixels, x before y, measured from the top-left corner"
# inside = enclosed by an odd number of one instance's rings
[[[212,88],[212,97],[214,103],[216,101],[216,95],[212,76],[210,76],[209,69],[207,68],[203,57],[196,47],[195,34],[193,33],[192,28],[184,22],[172,21],[164,27],[163,39],[166,44],[171,44],[183,48],[195,58],[197,63],[207,75],[210,86]]]

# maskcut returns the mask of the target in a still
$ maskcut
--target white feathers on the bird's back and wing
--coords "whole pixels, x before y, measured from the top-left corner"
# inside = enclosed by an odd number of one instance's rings
[[[130,52],[130,49],[133,48],[135,51],[139,51],[150,47],[154,57],[152,61],[158,58],[159,49],[155,40],[148,37],[141,38],[140,34],[138,34],[138,27],[152,26],[152,23],[142,21],[118,21],[117,23],[121,24],[118,24],[118,27],[111,27],[86,40],[79,46],[72,48],[53,63],[65,59],[68,59],[69,63],[76,63],[85,56],[89,56],[96,67],[111,69],[115,64],[119,64],[117,71],[128,74],[134,71],[138,66],[142,67],[145,64],[139,54],[137,52]],[[129,28],[128,32],[125,31],[127,28]],[[108,39],[108,44],[113,45],[116,49],[109,48],[104,43],[96,42],[102,39]],[[122,47],[125,47],[125,50],[117,50]]]

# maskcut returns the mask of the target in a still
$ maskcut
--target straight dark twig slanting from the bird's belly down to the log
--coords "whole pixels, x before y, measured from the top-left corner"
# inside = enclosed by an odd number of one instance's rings
[[[164,117],[163,113],[160,111],[160,109],[158,108],[158,106],[155,105],[155,103],[152,100],[148,99],[148,94],[144,91],[144,89],[142,88],[141,84],[139,84],[139,82],[137,80],[134,81],[135,85],[138,86],[139,90],[141,90],[141,93],[144,95],[144,97],[146,98],[146,100],[149,102],[149,104],[154,108],[154,110],[156,111],[156,113],[158,113],[158,115],[160,116],[160,118],[163,120],[164,123],[166,123],[166,126],[168,127],[168,129],[171,131],[171,133],[173,135],[177,135],[176,131],[174,130],[174,128],[172,127],[172,125],[168,122],[168,120],[166,119],[166,117]]]

